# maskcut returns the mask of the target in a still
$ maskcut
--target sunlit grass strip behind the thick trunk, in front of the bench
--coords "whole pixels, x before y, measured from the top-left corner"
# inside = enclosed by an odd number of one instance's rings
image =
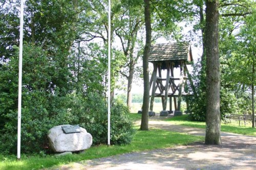
[[[176,125],[184,125],[196,128],[204,128],[205,129],[205,122],[197,122],[197,121],[190,121],[188,120],[188,115],[176,116],[172,118],[165,119],[165,121],[170,122],[171,124]],[[230,132],[242,135],[252,135],[256,136],[256,129],[248,127],[248,126],[238,126],[233,124],[221,124],[221,132]]]

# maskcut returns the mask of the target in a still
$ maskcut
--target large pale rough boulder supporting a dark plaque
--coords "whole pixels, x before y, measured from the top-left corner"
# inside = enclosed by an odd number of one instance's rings
[[[61,126],[52,127],[48,132],[50,148],[55,152],[74,152],[81,151],[91,147],[92,135],[87,133],[86,129],[80,127],[79,133],[65,134]]]

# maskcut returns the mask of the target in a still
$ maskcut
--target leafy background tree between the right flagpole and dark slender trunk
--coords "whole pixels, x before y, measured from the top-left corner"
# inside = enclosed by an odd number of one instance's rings
[[[135,64],[141,57],[141,45],[137,33],[142,27],[143,23],[143,12],[139,4],[128,2],[124,6],[124,14],[121,17],[122,24],[115,30],[116,35],[119,37],[123,53],[126,57],[126,64],[122,67],[120,71],[121,74],[128,80],[127,84],[127,106],[131,108],[132,104],[132,83],[134,79],[134,73],[136,71]],[[127,13],[127,14],[126,14]],[[136,48],[137,44],[137,48]],[[137,52],[137,55],[135,56]]]

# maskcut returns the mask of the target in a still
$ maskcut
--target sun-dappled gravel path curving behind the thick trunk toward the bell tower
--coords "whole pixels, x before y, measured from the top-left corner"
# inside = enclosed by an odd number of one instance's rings
[[[150,128],[191,135],[205,135],[204,129],[170,125],[162,117],[150,118]],[[222,145],[194,143],[188,146],[128,153],[64,165],[62,170],[144,170],[144,169],[256,169],[256,137],[221,133]],[[56,169],[56,168],[55,168]]]

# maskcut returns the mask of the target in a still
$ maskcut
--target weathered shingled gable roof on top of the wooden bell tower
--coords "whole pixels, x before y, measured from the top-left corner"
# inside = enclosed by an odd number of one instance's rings
[[[193,61],[191,47],[187,42],[151,46],[149,62],[177,60]]]

